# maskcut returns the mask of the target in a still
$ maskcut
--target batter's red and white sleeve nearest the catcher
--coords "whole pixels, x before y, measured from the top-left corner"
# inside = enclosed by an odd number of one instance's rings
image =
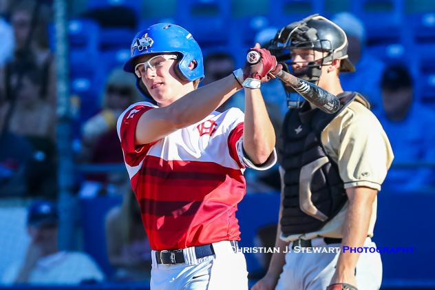
[[[229,113],[233,115],[235,121],[229,127],[228,147],[231,158],[233,158],[240,168],[249,167],[256,170],[267,170],[273,167],[277,162],[277,153],[275,148],[270,154],[268,160],[262,165],[255,165],[244,152],[243,149],[243,127],[244,127],[244,114],[239,109],[231,109]]]

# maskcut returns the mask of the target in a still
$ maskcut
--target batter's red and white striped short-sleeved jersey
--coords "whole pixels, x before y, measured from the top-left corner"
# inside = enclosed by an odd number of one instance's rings
[[[245,194],[244,114],[213,112],[156,142],[135,146],[136,125],[151,103],[131,105],[118,119],[118,136],[151,248],[184,249],[240,240],[235,211]]]

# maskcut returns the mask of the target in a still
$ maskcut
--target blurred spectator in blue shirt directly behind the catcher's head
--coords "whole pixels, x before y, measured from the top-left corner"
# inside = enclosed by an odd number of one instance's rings
[[[363,22],[350,12],[340,12],[331,19],[348,36],[348,55],[357,71],[352,74],[340,74],[343,90],[352,88],[360,92],[370,102],[371,109],[376,112],[382,106],[380,81],[385,64],[370,54],[366,49],[365,28]]]

